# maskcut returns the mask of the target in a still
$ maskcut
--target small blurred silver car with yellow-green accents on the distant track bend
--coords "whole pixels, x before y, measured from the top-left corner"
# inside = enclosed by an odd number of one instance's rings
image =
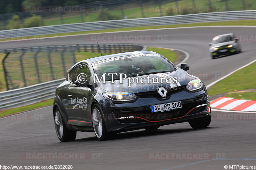
[[[215,36],[209,46],[211,46],[209,50],[212,59],[218,58],[220,55],[237,54],[242,51],[238,38],[233,33]]]

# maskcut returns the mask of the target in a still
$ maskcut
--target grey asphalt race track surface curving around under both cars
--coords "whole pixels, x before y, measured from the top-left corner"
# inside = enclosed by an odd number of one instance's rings
[[[242,41],[242,53],[212,60],[208,51],[212,37],[223,33],[255,35],[255,32],[255,27],[209,27],[97,35],[167,36],[167,41],[130,43],[187,51],[190,58],[186,63],[191,68],[188,72],[208,85],[256,58],[256,42]],[[1,42],[0,48],[96,43],[86,41],[86,38],[88,40],[86,36],[72,36],[37,42]],[[212,114],[213,120],[205,129],[192,129],[185,122],[162,126],[153,131],[124,132],[109,141],[98,141],[93,132],[78,132],[75,141],[60,143],[55,133],[51,107],[44,107],[0,119],[0,165],[72,165],[75,170],[224,170],[225,165],[256,166],[256,114],[219,111],[213,111]],[[243,120],[246,115],[250,120]],[[58,156],[64,153],[81,156],[85,153],[87,156],[86,159],[71,157],[63,160],[61,157],[43,158],[40,156],[42,153]],[[35,155],[37,157],[33,157]]]

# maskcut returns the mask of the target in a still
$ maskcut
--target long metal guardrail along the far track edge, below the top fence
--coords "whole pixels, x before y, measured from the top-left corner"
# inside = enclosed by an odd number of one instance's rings
[[[55,26],[41,26],[33,28],[23,28],[15,30],[0,31],[0,38],[5,36],[33,36],[54,33],[69,33],[78,31],[102,30],[112,28],[125,28],[135,26],[159,26],[173,24],[188,24],[197,22],[216,22],[256,19],[256,10],[250,11],[227,11],[227,12],[210,12],[200,14],[176,15],[166,17],[138,18],[138,19],[121,19],[99,22],[86,22],[76,24],[64,24]]]

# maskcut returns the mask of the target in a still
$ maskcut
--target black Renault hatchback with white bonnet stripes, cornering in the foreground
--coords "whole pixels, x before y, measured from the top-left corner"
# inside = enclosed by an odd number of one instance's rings
[[[189,122],[204,128],[211,122],[208,93],[201,80],[152,51],[90,58],[68,70],[56,88],[55,129],[61,142],[76,131],[95,132],[106,140],[118,132],[153,130]]]

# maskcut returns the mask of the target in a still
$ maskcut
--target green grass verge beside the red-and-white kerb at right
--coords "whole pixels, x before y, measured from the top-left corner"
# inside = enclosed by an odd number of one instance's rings
[[[228,93],[228,92],[236,92],[239,90],[247,90],[247,89],[254,89],[256,88],[256,77],[255,72],[252,70],[256,69],[256,63],[252,63],[251,65],[236,71],[234,74],[228,76],[227,78],[219,81],[215,85],[213,85],[209,90],[209,95],[221,94],[221,93]],[[254,93],[255,94],[255,93]],[[250,92],[244,92],[242,94],[239,93],[232,93],[228,94],[229,96],[238,97],[242,95],[243,98],[247,100],[255,99],[255,96],[250,94]],[[232,98],[233,98],[232,97]]]

